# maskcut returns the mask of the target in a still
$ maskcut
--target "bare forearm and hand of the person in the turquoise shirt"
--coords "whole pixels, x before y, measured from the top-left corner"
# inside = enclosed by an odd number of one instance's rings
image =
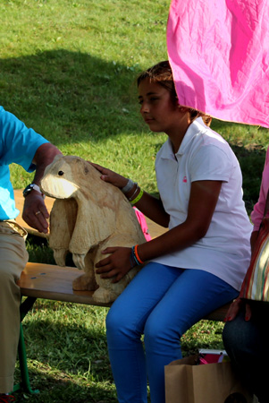
[[[62,154],[53,144],[46,142],[38,147],[33,158],[33,163],[36,165],[36,173],[33,179],[33,184],[40,184],[45,168],[55,159],[55,156]],[[30,227],[38,229],[39,232],[47,233],[49,217],[48,211],[42,194],[36,190],[32,190],[25,198],[22,219],[24,219]]]

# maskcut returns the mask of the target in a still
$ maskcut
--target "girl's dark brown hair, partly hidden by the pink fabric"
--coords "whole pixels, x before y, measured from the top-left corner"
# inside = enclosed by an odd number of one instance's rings
[[[137,79],[137,84],[141,81],[148,79],[150,82],[156,82],[166,90],[168,90],[171,94],[172,103],[174,105],[179,105],[179,99],[177,96],[177,92],[175,90],[174,81],[172,77],[172,68],[169,64],[168,60],[164,62],[160,62],[155,64],[152,67],[149,67],[145,72],[140,73]],[[209,126],[212,121],[212,117],[204,114],[203,112],[198,111],[197,109],[189,107],[189,116],[191,122],[197,119],[199,116],[202,116],[204,123]]]

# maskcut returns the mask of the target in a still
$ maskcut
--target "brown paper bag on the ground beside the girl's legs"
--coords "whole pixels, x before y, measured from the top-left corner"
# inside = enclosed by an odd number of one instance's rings
[[[231,363],[197,365],[197,362],[198,356],[188,356],[165,365],[165,403],[253,401],[253,396],[233,372]],[[238,399],[231,399],[233,393],[240,393]]]

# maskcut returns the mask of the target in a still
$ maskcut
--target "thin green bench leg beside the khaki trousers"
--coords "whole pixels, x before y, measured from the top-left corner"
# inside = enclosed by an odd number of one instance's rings
[[[37,298],[28,297],[22,304],[21,304],[21,321],[25,317],[25,315],[29,312],[29,309],[32,308],[33,304],[35,303]],[[18,345],[18,356],[20,361],[20,370],[21,370],[21,382],[14,385],[13,392],[17,390],[25,390],[28,393],[34,394],[39,393],[39,390],[32,390],[29,383],[29,372],[27,366],[27,356],[26,356],[26,349],[24,343],[24,336],[23,336],[23,329],[22,324],[20,328],[20,339]]]

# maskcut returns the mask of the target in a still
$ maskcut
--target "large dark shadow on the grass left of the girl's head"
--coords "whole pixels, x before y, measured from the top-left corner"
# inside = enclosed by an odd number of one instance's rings
[[[0,71],[4,108],[59,148],[137,131],[135,67],[63,49],[0,59]]]

